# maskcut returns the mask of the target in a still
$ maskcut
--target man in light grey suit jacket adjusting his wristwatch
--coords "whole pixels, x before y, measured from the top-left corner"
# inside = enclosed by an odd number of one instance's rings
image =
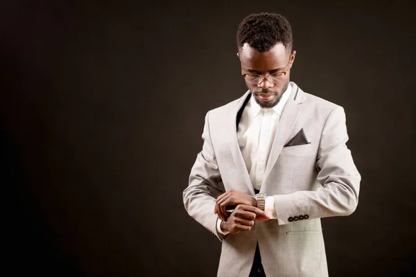
[[[237,46],[249,90],[207,113],[184,206],[222,241],[218,276],[328,276],[320,218],[353,213],[361,181],[344,109],[289,81],[285,17],[249,15]]]

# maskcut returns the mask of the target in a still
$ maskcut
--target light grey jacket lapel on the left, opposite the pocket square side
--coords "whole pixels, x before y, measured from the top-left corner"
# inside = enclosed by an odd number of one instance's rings
[[[241,175],[245,181],[246,186],[250,190],[250,193],[254,195],[254,188],[250,179],[250,175],[248,174],[247,166],[245,166],[245,161],[243,158],[243,154],[241,154],[239,140],[237,138],[237,128],[239,126],[239,122],[241,119],[241,115],[243,114],[243,110],[245,105],[247,104],[248,100],[250,100],[251,93],[247,91],[243,97],[240,98],[239,102],[237,102],[236,109],[233,109],[231,120],[229,122],[229,136],[231,136],[231,153],[236,163],[237,168],[239,168]]]

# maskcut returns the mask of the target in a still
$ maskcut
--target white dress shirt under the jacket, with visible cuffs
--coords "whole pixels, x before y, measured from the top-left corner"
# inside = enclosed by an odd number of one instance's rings
[[[292,87],[289,84],[280,101],[272,108],[260,107],[254,96],[251,96],[241,115],[237,138],[245,166],[256,190],[260,190],[263,183],[268,157],[275,140],[277,124],[291,91]],[[272,196],[266,197],[265,211],[270,215],[270,219],[277,219],[274,204]],[[217,231],[227,235],[229,232],[221,231],[220,224],[221,220],[218,218]]]

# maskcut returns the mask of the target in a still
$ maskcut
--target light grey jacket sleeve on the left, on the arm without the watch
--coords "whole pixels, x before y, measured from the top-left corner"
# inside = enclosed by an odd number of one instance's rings
[[[183,192],[184,206],[189,215],[222,241],[227,235],[217,233],[218,216],[214,214],[216,197],[225,192],[209,133],[209,112],[202,133],[204,144],[189,175],[189,186]]]

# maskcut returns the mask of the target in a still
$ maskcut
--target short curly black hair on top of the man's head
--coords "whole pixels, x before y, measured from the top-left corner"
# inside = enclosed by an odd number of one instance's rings
[[[258,52],[267,52],[279,42],[288,52],[292,51],[292,27],[288,19],[276,13],[261,12],[248,15],[239,24],[237,46],[239,51],[245,43]]]

